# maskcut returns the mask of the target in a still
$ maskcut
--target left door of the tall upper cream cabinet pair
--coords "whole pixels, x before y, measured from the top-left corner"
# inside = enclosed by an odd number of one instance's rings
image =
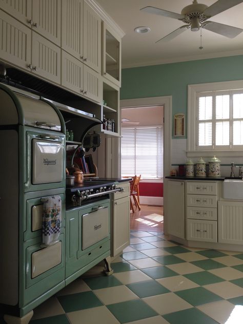
[[[62,48],[83,58],[83,0],[62,1]]]

